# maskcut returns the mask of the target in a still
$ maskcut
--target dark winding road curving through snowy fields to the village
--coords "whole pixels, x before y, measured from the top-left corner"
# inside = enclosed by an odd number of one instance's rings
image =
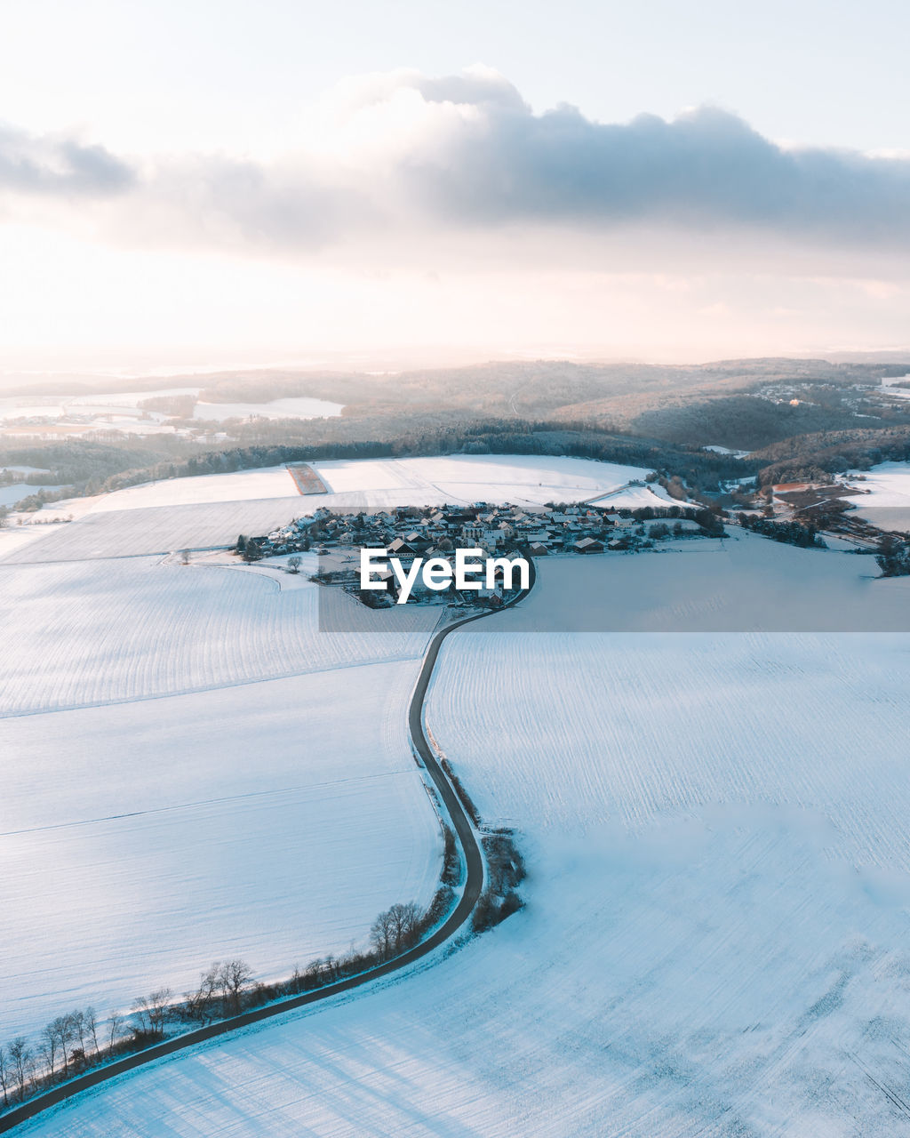
[[[530,593],[531,588],[533,588],[537,574],[535,571],[533,561],[530,558],[528,558],[528,564],[530,566],[528,588],[518,593],[514,600],[508,601],[504,608],[511,608],[513,604],[518,604],[518,602],[526,597],[528,593]],[[449,916],[442,922],[442,924],[430,933],[425,940],[420,941],[420,943],[415,945],[413,948],[410,948],[407,951],[402,953],[399,956],[396,956],[390,960],[386,960],[372,968],[367,968],[366,972],[348,976],[345,980],[339,980],[333,984],[328,984],[326,987],[318,988],[312,992],[304,992],[300,996],[289,996],[287,999],[280,1000],[276,1004],[254,1008],[249,1012],[243,1012],[240,1015],[231,1016],[229,1020],[220,1020],[216,1023],[209,1023],[205,1028],[197,1028],[195,1031],[188,1031],[182,1036],[175,1036],[173,1039],[165,1039],[160,1044],[155,1044],[152,1047],[147,1047],[141,1052],[136,1052],[134,1055],[126,1055],[124,1058],[116,1059],[105,1066],[96,1067],[92,1071],[86,1071],[84,1074],[76,1075],[75,1079],[71,1079],[68,1082],[61,1083],[59,1087],[53,1087],[50,1090],[44,1091],[42,1095],[36,1095],[34,1098],[30,1098],[27,1102],[22,1103],[18,1106],[14,1106],[11,1110],[0,1115],[0,1133],[6,1133],[20,1122],[25,1122],[27,1119],[34,1118],[42,1111],[58,1106],[68,1098],[80,1095],[83,1090],[89,1090],[91,1087],[97,1087],[102,1082],[108,1082],[110,1079],[116,1079],[129,1071],[134,1071],[136,1067],[144,1066],[147,1063],[154,1063],[156,1059],[164,1058],[167,1055],[174,1055],[176,1052],[187,1050],[190,1047],[195,1047],[197,1044],[215,1039],[217,1036],[225,1036],[228,1032],[237,1031],[239,1028],[248,1028],[250,1024],[259,1023],[262,1020],[271,1020],[275,1015],[283,1015],[286,1012],[292,1012],[298,1007],[306,1007],[309,1004],[317,1004],[320,1000],[330,999],[332,996],[350,991],[354,988],[361,988],[363,984],[367,984],[372,980],[378,980],[381,976],[387,976],[392,972],[397,972],[399,968],[407,967],[407,965],[413,964],[415,960],[419,960],[423,956],[428,956],[435,949],[439,948],[440,945],[444,945],[462,927],[462,925],[468,921],[468,917],[471,915],[471,912],[473,910],[474,905],[477,904],[477,900],[483,889],[483,855],[480,850],[477,835],[474,834],[471,819],[468,817],[454,786],[437,762],[432,748],[427,740],[427,735],[423,731],[423,702],[427,696],[427,688],[430,684],[433,666],[436,665],[437,657],[439,655],[439,648],[446,636],[448,636],[449,633],[454,633],[456,628],[463,628],[465,625],[470,625],[474,620],[483,620],[486,617],[494,616],[497,611],[503,611],[503,609],[489,610],[487,612],[479,612],[472,617],[465,617],[463,620],[454,621],[448,625],[448,627],[440,629],[433,636],[430,641],[430,646],[427,650],[427,655],[423,658],[423,665],[420,670],[420,676],[417,677],[416,686],[414,687],[414,694],[411,698],[411,708],[408,710],[407,721],[413,745],[427,768],[428,774],[432,778],[433,784],[439,792],[439,797],[441,798],[449,818],[452,819],[456,839],[462,847],[462,857],[464,858],[465,864],[464,892],[462,893],[458,904],[455,906]]]

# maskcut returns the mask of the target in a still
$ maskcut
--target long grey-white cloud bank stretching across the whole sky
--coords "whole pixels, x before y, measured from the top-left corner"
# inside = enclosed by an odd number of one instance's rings
[[[775,238],[808,247],[910,245],[910,158],[788,149],[712,107],[598,123],[535,113],[489,68],[347,80],[311,108],[306,138],[271,162],[225,155],[118,158],[71,139],[0,130],[0,188],[119,191],[118,241],[263,253],[462,233],[640,229]],[[104,215],[99,215],[104,216]]]

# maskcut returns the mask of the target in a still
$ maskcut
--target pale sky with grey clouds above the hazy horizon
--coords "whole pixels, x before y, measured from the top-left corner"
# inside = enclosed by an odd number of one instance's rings
[[[910,349],[905,5],[0,10],[0,374]]]

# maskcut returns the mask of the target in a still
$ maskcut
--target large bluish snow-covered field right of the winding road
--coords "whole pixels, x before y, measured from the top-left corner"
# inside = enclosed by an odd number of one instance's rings
[[[520,833],[521,914],[23,1133],[910,1132],[910,638],[565,630],[570,599],[665,611],[680,578],[704,596],[710,556],[739,569],[712,578],[721,608],[810,567],[817,624],[851,577],[878,603],[866,559],[726,544],[543,561],[529,601],[446,641],[428,723]]]

